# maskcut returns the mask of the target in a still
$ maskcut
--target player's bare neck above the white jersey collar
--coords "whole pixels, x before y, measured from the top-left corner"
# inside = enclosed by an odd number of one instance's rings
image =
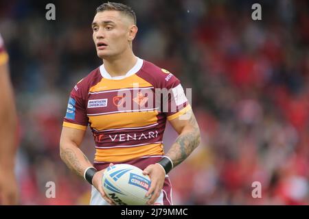
[[[107,57],[103,59],[104,68],[111,77],[124,76],[135,66],[137,57],[132,50],[128,50],[117,57]]]

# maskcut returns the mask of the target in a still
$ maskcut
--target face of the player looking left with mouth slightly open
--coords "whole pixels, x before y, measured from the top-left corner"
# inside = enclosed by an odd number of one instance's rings
[[[113,57],[130,49],[130,19],[117,11],[95,14],[92,23],[93,41],[100,58]]]

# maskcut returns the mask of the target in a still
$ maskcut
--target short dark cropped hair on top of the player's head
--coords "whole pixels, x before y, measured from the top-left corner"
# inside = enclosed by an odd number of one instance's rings
[[[124,5],[123,3],[116,3],[116,2],[107,2],[102,3],[97,10],[95,10],[95,13],[98,12],[104,12],[104,11],[118,11],[123,14],[126,14],[127,16],[130,16],[133,18],[134,24],[136,25],[136,15],[135,12],[130,8],[128,5]]]

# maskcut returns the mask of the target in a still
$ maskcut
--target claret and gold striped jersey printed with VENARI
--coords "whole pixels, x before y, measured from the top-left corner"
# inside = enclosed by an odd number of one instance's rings
[[[164,88],[169,93],[158,95]],[[124,77],[111,77],[102,64],[79,81],[71,91],[63,126],[86,130],[89,125],[98,170],[111,162],[144,169],[164,154],[166,120],[190,108],[179,79],[137,58]]]

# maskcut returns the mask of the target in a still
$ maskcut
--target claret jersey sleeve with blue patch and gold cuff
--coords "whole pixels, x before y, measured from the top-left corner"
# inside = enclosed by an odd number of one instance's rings
[[[85,101],[82,98],[81,90],[78,85],[73,88],[67,104],[67,113],[63,120],[64,127],[86,130],[89,122]]]

